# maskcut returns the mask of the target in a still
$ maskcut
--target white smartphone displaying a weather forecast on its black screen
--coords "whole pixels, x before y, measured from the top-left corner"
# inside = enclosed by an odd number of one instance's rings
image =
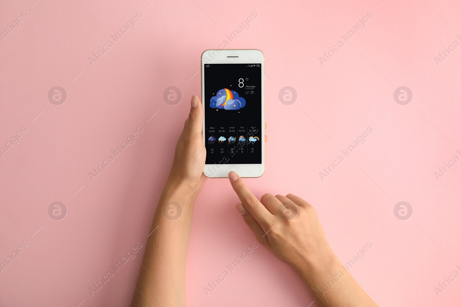
[[[264,54],[257,49],[205,50],[201,55],[203,174],[227,178],[264,173]]]

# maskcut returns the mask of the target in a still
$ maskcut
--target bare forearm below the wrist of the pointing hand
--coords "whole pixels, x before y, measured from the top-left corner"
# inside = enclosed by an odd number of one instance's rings
[[[377,307],[335,255],[325,255],[318,261],[307,261],[295,271],[318,306]]]

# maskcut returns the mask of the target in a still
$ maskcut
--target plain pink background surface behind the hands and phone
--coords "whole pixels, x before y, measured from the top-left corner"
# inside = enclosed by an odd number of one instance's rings
[[[343,264],[372,243],[350,272],[379,306],[459,304],[461,277],[438,296],[434,287],[461,273],[461,162],[439,180],[434,172],[461,158],[461,46],[438,65],[434,57],[461,42],[461,3],[353,2],[0,1],[0,30],[27,13],[0,42],[0,145],[27,128],[0,157],[0,260],[27,243],[0,273],[0,305],[129,306],[145,247],[94,296],[89,287],[145,244],[190,96],[200,94],[201,52],[223,41],[266,56],[269,141],[265,174],[245,180],[254,194],[304,195]],[[136,12],[136,27],[92,66],[92,53]],[[321,65],[366,12],[365,29]],[[48,100],[55,86],[64,104]],[[170,86],[183,93],[177,105],[163,100]],[[285,86],[296,89],[294,104],[279,101]],[[407,105],[393,98],[401,86],[413,92]],[[136,143],[91,181],[136,127]],[[365,144],[321,180],[367,127]],[[55,201],[68,210],[63,220],[48,215]],[[226,179],[209,180],[197,199],[186,306],[308,306],[295,273],[262,246],[205,294],[255,241],[237,201]],[[400,201],[413,208],[408,220],[394,215]]]

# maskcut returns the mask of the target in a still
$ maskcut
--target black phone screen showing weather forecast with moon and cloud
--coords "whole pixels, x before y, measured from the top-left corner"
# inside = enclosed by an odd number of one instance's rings
[[[205,64],[206,164],[261,164],[261,64]]]

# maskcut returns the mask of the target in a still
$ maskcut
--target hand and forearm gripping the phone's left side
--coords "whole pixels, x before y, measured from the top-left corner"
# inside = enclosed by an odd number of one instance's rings
[[[185,306],[185,266],[195,198],[206,177],[203,107],[190,99],[173,165],[160,195],[142,260],[132,307]]]

